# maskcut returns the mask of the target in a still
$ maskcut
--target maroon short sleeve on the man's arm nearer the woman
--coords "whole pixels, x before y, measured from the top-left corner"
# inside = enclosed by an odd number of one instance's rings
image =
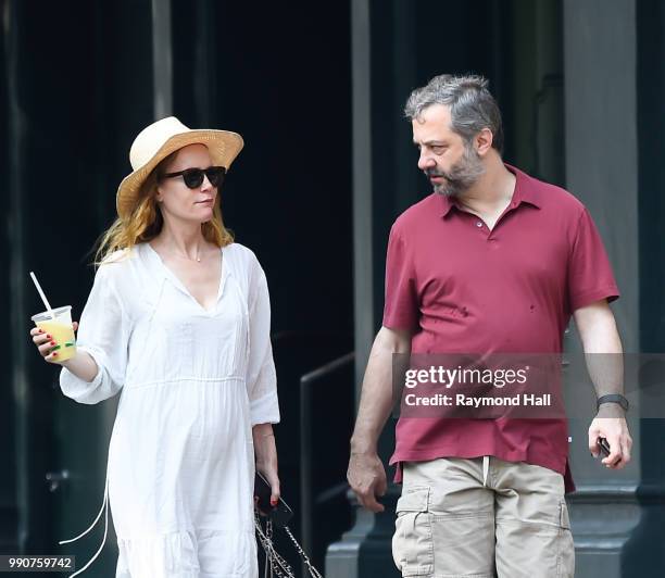
[[[413,330],[418,326],[418,300],[413,261],[397,224],[390,229],[386,256],[384,327]]]

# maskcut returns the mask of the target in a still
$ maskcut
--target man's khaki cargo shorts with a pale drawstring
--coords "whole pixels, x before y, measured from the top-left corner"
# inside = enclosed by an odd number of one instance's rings
[[[493,456],[403,464],[392,556],[402,576],[572,578],[561,474]]]

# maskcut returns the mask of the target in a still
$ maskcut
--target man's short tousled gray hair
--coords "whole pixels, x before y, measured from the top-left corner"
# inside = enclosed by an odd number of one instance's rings
[[[450,108],[451,129],[469,144],[484,128],[492,131],[492,147],[503,152],[501,111],[488,90],[488,80],[473,74],[435,76],[426,86],[416,88],[404,106],[404,115],[413,121],[432,104]]]

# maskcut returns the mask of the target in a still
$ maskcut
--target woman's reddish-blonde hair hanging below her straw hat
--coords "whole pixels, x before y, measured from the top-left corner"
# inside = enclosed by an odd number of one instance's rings
[[[158,175],[177,152],[175,151],[162,160],[146,177],[131,213],[128,216],[118,215],[113,225],[100,236],[99,246],[95,253],[96,266],[108,261],[113,253],[122,251],[126,254],[136,244],[151,241],[160,234],[164,225],[164,218],[155,201]],[[217,200],[213,206],[213,217],[201,225],[201,233],[206,241],[217,247],[226,247],[234,242],[234,236],[224,226],[218,199],[219,193],[217,192]]]

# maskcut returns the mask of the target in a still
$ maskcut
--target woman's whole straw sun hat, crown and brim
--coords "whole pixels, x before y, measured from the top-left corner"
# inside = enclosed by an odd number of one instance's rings
[[[134,172],[127,175],[117,188],[115,205],[121,218],[131,214],[141,185],[160,161],[188,144],[205,144],[212,164],[224,166],[228,171],[242,149],[243,141],[240,135],[228,130],[192,130],[175,116],[147,126],[134,139],[129,149],[129,162]]]

